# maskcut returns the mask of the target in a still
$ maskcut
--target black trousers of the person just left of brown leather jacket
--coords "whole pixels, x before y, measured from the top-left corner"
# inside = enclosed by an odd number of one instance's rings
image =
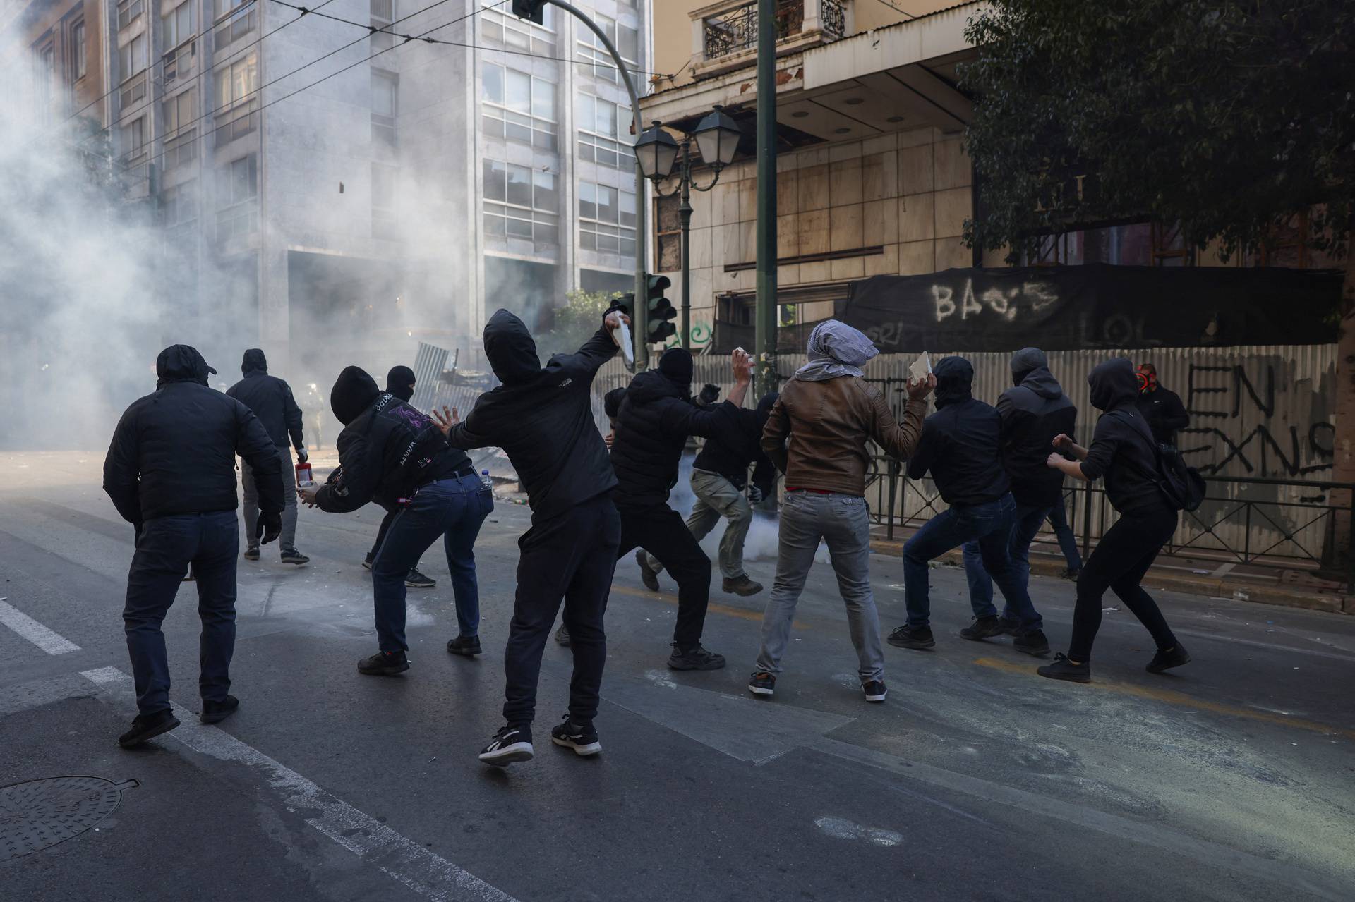
[[[687,528],[682,515],[667,504],[630,507],[618,504],[621,513],[621,546],[617,558],[633,549],[644,549],[659,558],[668,576],[678,581],[678,623],[673,626],[673,645],[687,651],[701,645],[706,626],[706,607],[710,604],[710,558],[701,550],[696,536]],[[573,635],[573,634],[570,634]]]

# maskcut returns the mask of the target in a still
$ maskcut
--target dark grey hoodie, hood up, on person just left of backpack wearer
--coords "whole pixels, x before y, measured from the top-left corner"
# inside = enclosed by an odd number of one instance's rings
[[[1062,500],[1064,474],[1046,465],[1060,432],[1073,435],[1077,408],[1049,371],[1039,348],[1012,355],[1015,387],[997,398],[1003,420],[1003,467],[1012,484],[1012,498],[1027,508],[1051,508]]]

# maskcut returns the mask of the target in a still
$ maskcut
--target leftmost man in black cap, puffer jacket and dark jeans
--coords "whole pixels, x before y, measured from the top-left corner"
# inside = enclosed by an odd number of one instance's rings
[[[236,455],[253,467],[259,524],[253,542],[282,532],[282,463],[249,408],[207,387],[196,348],[176,344],[156,359],[156,390],[122,414],[103,462],[103,490],[137,530],[122,622],[140,714],[118,742],[140,745],[179,726],[169,708],[169,662],[160,624],[188,566],[202,618],[198,688],[203,723],[228,718],[236,646]]]

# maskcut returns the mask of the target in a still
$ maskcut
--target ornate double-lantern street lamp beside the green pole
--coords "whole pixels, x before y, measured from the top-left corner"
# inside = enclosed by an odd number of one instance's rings
[[[673,139],[671,134],[654,122],[635,141],[635,158],[640,161],[640,171],[646,179],[654,183],[654,194],[660,198],[671,198],[682,192],[682,206],[678,213],[682,215],[682,330],[678,333],[682,347],[691,344],[691,256],[688,249],[688,232],[691,229],[691,190],[710,191],[720,181],[721,171],[734,158],[741,133],[736,123],[721,107],[715,107],[691,134],[683,134],[682,142]],[[710,167],[715,177],[710,184],[701,187],[691,177],[691,142],[696,141],[701,158]],[[678,163],[682,153],[682,168],[679,169],[679,184],[664,194],[659,190],[659,183],[667,179]]]

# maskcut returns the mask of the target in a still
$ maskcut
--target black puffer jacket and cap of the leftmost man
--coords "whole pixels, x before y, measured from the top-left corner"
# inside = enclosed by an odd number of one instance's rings
[[[156,391],[131,402],[108,444],[103,490],[122,519],[236,509],[236,455],[253,469],[259,509],[282,511],[282,462],[249,408],[207,387],[190,345],[160,352]]]

